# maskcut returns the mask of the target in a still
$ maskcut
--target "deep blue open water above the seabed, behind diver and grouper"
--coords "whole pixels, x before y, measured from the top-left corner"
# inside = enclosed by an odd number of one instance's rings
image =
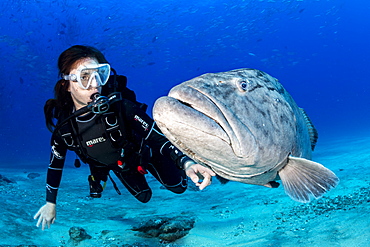
[[[0,167],[47,165],[43,105],[75,44],[102,50],[149,109],[187,79],[250,67],[278,78],[321,138],[361,134],[369,10],[364,0],[1,1]]]

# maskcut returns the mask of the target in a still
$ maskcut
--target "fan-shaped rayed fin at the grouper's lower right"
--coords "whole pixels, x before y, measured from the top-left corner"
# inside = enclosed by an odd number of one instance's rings
[[[279,171],[285,193],[298,202],[310,202],[337,186],[339,178],[323,165],[297,157],[289,157]]]

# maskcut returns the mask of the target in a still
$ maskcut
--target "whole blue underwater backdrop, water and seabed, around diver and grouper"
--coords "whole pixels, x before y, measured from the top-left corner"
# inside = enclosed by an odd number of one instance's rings
[[[81,247],[368,247],[369,13],[365,0],[0,1],[0,247],[70,247],[73,226],[92,236]],[[254,68],[278,78],[318,129],[313,160],[338,187],[302,204],[282,186],[214,180],[176,195],[148,176],[150,203],[120,183],[122,196],[108,183],[92,201],[88,167],[76,172],[70,153],[57,221],[41,231],[33,215],[45,202],[51,135],[43,106],[59,54],[76,44],[103,51],[150,115],[157,98],[204,73]],[[163,216],[196,223],[171,244],[133,231]]]

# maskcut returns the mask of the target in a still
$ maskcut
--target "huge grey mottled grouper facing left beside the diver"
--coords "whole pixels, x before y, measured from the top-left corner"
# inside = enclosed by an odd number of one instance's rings
[[[159,98],[153,117],[181,151],[222,180],[276,188],[299,202],[339,179],[311,161],[317,131],[279,81],[256,69],[207,73]]]

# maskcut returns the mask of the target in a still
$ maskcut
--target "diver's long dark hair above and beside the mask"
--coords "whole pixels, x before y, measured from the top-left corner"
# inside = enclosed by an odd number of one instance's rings
[[[68,75],[72,66],[80,59],[94,58],[98,63],[108,63],[103,53],[91,46],[74,45],[63,51],[58,58],[59,76]],[[54,99],[46,101],[44,114],[46,127],[53,132],[55,123],[53,119],[59,119],[61,116],[67,117],[73,110],[73,100],[68,92],[69,81],[60,79],[54,87]]]

